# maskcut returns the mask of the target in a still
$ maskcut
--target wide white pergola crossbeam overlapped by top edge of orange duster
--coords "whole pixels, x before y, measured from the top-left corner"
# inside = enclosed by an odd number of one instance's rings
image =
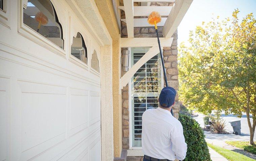
[[[168,16],[172,6],[134,6],[133,16],[149,16],[152,11],[157,11],[161,16]],[[119,6],[118,9],[125,11],[125,6]]]

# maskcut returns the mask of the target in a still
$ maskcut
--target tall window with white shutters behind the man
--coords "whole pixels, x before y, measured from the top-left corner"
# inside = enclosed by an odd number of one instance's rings
[[[131,48],[131,65],[135,64],[150,48]],[[142,114],[158,107],[161,91],[161,59],[156,55],[143,64],[131,79],[132,147],[141,147]]]

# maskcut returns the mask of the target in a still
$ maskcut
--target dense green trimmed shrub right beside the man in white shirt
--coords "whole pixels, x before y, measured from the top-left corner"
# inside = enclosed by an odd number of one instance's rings
[[[185,142],[188,147],[184,161],[211,161],[209,149],[200,125],[195,119],[183,114],[179,114],[179,120],[183,126]]]

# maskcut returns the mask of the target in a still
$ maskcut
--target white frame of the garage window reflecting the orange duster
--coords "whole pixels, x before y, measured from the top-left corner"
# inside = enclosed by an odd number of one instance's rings
[[[8,0],[10,1],[10,0]],[[28,0],[19,0],[18,3],[18,33],[24,37],[26,37],[27,39],[37,43],[38,45],[60,55],[63,58],[66,58],[66,28],[67,25],[67,21],[65,18],[65,15],[67,15],[67,12],[64,10],[64,6],[60,3],[60,2],[56,2],[53,0],[50,0],[53,4],[53,7],[56,11],[56,14],[58,16],[58,20],[61,24],[62,27],[62,36],[63,36],[63,40],[64,40],[64,44],[63,44],[63,48],[60,48],[59,46],[57,46],[56,44],[54,44],[53,42],[51,42],[50,40],[48,40],[47,38],[45,38],[44,36],[42,36],[41,34],[37,33],[36,31],[34,31],[33,29],[31,29],[28,25],[23,23],[23,9],[27,8],[27,4],[28,4]],[[56,4],[58,3],[58,4]],[[56,7],[58,6],[58,7]],[[64,17],[61,17],[60,15],[64,15]],[[64,23],[66,22],[66,23]]]

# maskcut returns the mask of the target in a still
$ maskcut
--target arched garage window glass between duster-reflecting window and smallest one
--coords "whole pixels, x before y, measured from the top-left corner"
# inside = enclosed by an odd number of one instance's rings
[[[76,37],[73,37],[71,55],[87,64],[87,49],[85,41],[80,33],[77,33]]]

